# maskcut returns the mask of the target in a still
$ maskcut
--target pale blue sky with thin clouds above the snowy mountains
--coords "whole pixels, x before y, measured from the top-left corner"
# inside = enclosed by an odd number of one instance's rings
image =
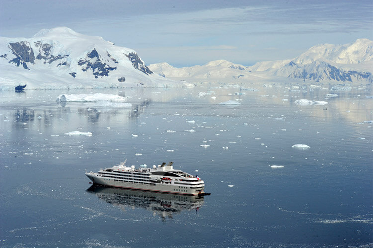
[[[134,49],[147,65],[250,66],[373,40],[373,0],[0,0],[2,37],[61,26]]]

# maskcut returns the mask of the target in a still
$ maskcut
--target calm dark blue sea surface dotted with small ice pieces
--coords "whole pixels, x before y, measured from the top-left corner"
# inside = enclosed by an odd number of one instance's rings
[[[62,93],[97,92],[127,96],[132,107],[56,103]],[[371,95],[275,87],[0,92],[0,247],[369,247]],[[241,105],[219,105],[228,100]],[[71,131],[92,136],[64,135]],[[174,161],[211,195],[91,187],[86,169],[125,159],[136,167]]]

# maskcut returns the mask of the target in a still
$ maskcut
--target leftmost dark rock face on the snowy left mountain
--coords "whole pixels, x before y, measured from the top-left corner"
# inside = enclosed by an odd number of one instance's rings
[[[25,69],[28,69],[26,62],[35,63],[34,51],[28,41],[9,43],[9,48],[16,56],[9,63],[14,63],[16,66],[22,64]]]

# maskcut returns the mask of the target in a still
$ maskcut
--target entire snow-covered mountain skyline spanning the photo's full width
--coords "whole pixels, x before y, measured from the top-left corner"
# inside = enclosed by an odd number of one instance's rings
[[[296,58],[253,66],[226,60],[176,68],[145,65],[136,51],[67,27],[42,29],[31,38],[0,37],[0,90],[110,87],[184,87],[189,83],[373,82],[373,42],[322,44]],[[181,81],[182,80],[182,81]]]

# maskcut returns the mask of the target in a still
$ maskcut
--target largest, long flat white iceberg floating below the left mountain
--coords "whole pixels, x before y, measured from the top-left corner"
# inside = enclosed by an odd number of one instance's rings
[[[126,101],[127,98],[119,95],[112,94],[61,94],[57,97],[57,102],[68,102],[68,101]]]

